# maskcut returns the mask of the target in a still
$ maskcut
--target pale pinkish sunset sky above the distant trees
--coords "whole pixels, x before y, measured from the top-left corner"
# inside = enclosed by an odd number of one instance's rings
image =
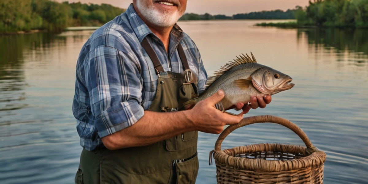
[[[93,4],[111,4],[116,7],[127,8],[132,0],[56,0]],[[296,6],[305,7],[309,0],[188,0],[186,13],[211,15],[224,14],[231,16],[238,13],[250,13],[262,10],[293,9]]]

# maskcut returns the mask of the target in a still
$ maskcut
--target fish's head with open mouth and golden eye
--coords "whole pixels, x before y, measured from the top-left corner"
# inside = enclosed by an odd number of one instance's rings
[[[289,75],[283,74],[270,67],[262,67],[251,74],[253,86],[266,95],[273,95],[293,88],[293,80]]]

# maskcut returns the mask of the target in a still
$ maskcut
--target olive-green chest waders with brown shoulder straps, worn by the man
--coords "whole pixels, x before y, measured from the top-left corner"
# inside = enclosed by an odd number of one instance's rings
[[[198,96],[197,76],[192,75],[180,44],[178,53],[184,74],[164,72],[146,38],[142,46],[159,77],[156,96],[148,110],[170,112]],[[75,183],[194,184],[198,173],[197,139],[198,131],[192,131],[147,146],[115,151],[83,149]]]

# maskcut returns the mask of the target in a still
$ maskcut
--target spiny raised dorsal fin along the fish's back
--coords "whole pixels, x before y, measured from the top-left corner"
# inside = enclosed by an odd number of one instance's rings
[[[252,58],[249,57],[248,54],[245,54],[245,55],[246,56],[244,56],[244,54],[241,54],[239,57],[237,56],[236,57],[237,59],[234,59],[234,61],[229,61],[224,66],[222,66],[220,70],[215,71],[213,76],[208,77],[205,87],[208,88],[208,86],[210,86],[213,82],[215,82],[216,79],[218,79],[225,72],[229,71],[231,68],[234,68],[236,66],[239,66],[245,63],[257,63],[252,52],[251,52]]]

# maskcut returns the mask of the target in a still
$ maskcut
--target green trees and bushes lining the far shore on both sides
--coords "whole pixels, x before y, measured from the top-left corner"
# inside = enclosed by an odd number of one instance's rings
[[[109,4],[58,3],[52,0],[1,0],[0,34],[61,32],[67,27],[101,26],[124,8]],[[296,21],[257,24],[284,28],[357,27],[368,28],[368,0],[310,0],[306,7],[227,15],[185,13],[186,20],[294,19]]]

